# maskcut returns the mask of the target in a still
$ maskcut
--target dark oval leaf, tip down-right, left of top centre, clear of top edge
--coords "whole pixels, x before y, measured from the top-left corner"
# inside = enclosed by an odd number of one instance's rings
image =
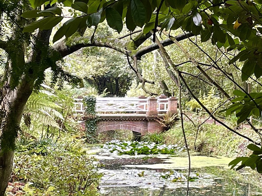
[[[121,15],[114,8],[107,8],[106,18],[108,26],[120,33],[123,29],[123,21]]]

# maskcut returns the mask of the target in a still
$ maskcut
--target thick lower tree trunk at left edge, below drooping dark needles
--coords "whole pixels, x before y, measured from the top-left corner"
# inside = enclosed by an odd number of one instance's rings
[[[5,102],[11,103],[10,107],[1,103],[1,110],[6,111],[6,117],[1,119],[1,148],[0,148],[0,196],[5,195],[6,187],[10,180],[13,169],[14,148],[19,125],[24,112],[26,102],[33,91],[33,81],[22,80],[21,84],[14,90],[7,89],[4,97]],[[4,123],[3,123],[4,122]]]

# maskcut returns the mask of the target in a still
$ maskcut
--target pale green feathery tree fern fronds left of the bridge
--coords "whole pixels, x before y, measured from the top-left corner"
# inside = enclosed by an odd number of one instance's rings
[[[61,106],[47,100],[44,93],[33,93],[24,109],[24,114],[30,114],[45,125],[60,128],[57,120],[64,120],[62,114],[56,109],[62,109]]]

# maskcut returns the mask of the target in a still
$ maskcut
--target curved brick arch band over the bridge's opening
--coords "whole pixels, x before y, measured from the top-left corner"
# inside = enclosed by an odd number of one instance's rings
[[[114,124],[114,125],[106,125],[106,126],[99,126],[98,127],[98,133],[111,131],[111,130],[130,130],[132,132],[137,133],[145,133],[146,129],[143,127],[137,127],[133,125],[125,125],[125,124]]]

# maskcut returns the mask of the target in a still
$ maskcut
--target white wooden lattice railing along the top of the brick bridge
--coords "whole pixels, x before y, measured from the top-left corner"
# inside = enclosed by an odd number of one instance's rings
[[[83,99],[75,99],[75,112],[85,112]],[[148,99],[137,97],[96,98],[96,112],[147,112]],[[157,99],[157,111],[168,111],[168,98]]]

